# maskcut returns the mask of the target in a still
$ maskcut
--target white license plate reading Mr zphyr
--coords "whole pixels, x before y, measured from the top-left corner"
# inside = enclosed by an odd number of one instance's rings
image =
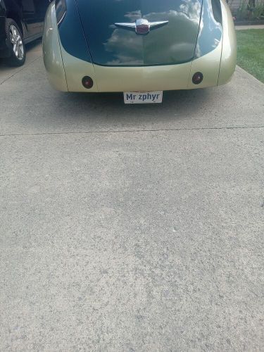
[[[162,103],[163,92],[125,92],[125,104]]]

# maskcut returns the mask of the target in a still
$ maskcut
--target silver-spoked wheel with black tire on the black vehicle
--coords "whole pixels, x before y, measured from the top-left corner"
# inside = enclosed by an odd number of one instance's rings
[[[11,18],[6,18],[6,38],[11,51],[11,56],[6,59],[6,63],[11,66],[22,66],[25,63],[25,44],[23,35]]]

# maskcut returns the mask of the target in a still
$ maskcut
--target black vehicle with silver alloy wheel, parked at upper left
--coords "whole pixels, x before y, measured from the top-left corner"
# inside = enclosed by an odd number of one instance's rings
[[[25,63],[25,44],[42,37],[49,0],[0,0],[0,58]]]

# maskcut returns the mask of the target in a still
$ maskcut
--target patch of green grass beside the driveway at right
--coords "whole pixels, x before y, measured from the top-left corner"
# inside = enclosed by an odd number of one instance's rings
[[[237,30],[237,65],[264,83],[264,30]]]

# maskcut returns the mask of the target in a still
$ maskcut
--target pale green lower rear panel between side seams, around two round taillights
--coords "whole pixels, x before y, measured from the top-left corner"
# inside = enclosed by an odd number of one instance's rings
[[[222,43],[209,54],[190,63],[144,67],[107,67],[93,65],[70,56],[61,49],[65,76],[70,92],[87,92],[81,84],[88,75],[94,80],[89,92],[138,92],[175,89],[196,89],[218,84]],[[203,82],[197,86],[191,77],[198,70],[203,72]]]

